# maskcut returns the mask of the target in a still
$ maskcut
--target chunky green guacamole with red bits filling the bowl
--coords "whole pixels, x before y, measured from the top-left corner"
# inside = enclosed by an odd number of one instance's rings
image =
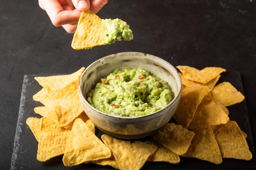
[[[87,94],[87,101],[110,115],[147,115],[168,105],[174,98],[171,86],[149,71],[115,69]]]

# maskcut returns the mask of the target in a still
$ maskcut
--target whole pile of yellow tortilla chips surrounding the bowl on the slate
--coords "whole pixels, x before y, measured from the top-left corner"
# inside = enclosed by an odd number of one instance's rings
[[[243,101],[243,95],[228,82],[215,85],[225,69],[177,68],[183,84],[174,115],[177,124],[166,124],[144,142],[95,135],[78,96],[78,81],[85,68],[70,75],[35,77],[43,88],[33,99],[44,106],[34,108],[41,118],[29,117],[27,125],[38,141],[38,161],[63,155],[64,166],[95,163],[139,170],[147,161],[177,164],[180,157],[215,164],[222,163],[222,158],[252,159],[245,132],[229,120],[226,108]]]

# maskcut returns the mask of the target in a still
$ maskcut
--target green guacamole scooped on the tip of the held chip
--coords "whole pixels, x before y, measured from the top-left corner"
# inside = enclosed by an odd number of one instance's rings
[[[132,40],[133,34],[132,30],[130,29],[130,26],[123,20],[116,18],[114,20],[112,19],[102,19],[102,21],[106,24],[108,28],[108,38],[107,43],[111,44],[115,41],[121,41],[121,40]]]

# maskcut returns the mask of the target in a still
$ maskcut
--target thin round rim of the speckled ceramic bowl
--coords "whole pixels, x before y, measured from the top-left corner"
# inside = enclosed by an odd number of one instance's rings
[[[177,94],[175,95],[174,99],[168,104],[166,105],[164,108],[161,108],[153,113],[149,113],[149,114],[146,114],[146,115],[141,115],[141,116],[132,116],[132,117],[122,117],[122,116],[115,116],[115,115],[110,115],[108,113],[104,113],[96,108],[94,108],[91,104],[89,104],[89,102],[85,99],[85,95],[83,94],[83,82],[82,82],[82,77],[84,76],[85,72],[88,71],[88,69],[90,69],[92,66],[94,66],[95,64],[97,63],[100,63],[100,62],[103,62],[105,60],[107,60],[108,58],[112,58],[112,57],[116,57],[116,55],[125,55],[125,54],[133,54],[133,55],[148,55],[150,57],[153,57],[153,58],[157,58],[157,60],[161,60],[162,62],[164,62],[165,64],[171,66],[171,68],[174,70],[174,72],[177,74],[177,77],[178,77],[178,81],[180,83],[180,88],[178,89],[177,91]],[[113,118],[117,118],[117,119],[139,119],[139,118],[144,118],[144,117],[149,117],[151,115],[156,115],[157,113],[160,113],[162,110],[165,110],[167,109],[172,103],[174,103],[176,100],[179,100],[179,96],[181,95],[182,93],[182,80],[181,80],[181,77],[180,77],[180,74],[178,73],[177,69],[169,62],[167,62],[166,60],[160,58],[160,57],[157,57],[155,55],[151,55],[151,54],[148,54],[148,53],[141,53],[141,52],[120,52],[120,53],[114,53],[114,54],[110,54],[110,55],[107,55],[105,57],[102,57],[94,62],[92,62],[88,67],[85,68],[85,70],[83,71],[83,73],[81,74],[81,77],[79,79],[79,97],[80,99],[86,104],[88,105],[91,109],[93,109],[94,111],[98,112],[98,113],[101,113],[107,117],[113,117]]]

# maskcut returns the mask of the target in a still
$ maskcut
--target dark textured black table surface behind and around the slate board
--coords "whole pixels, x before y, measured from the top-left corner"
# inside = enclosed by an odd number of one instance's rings
[[[124,51],[150,53],[174,66],[239,72],[256,146],[255,0],[109,0],[98,15],[125,20],[134,40],[75,51],[73,35],[54,27],[38,1],[0,1],[1,170],[11,167],[24,75],[72,73]]]

